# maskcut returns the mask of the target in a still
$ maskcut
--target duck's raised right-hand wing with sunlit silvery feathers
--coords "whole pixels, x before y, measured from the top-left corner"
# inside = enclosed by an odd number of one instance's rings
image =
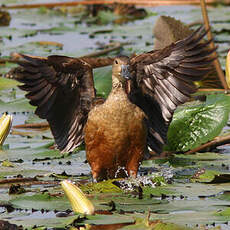
[[[201,41],[206,35],[203,27],[189,37],[162,49],[131,58],[134,74],[130,100],[147,115],[148,145],[161,152],[167,142],[167,131],[178,105],[186,102],[196,91],[193,81],[209,72],[211,41]]]

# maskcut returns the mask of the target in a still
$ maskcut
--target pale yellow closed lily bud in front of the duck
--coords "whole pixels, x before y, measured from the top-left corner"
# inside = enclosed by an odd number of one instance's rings
[[[83,214],[94,214],[94,206],[85,194],[76,185],[68,180],[61,182],[61,186],[69,199],[74,212]]]

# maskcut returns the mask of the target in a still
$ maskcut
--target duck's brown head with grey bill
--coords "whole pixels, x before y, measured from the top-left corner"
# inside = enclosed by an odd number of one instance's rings
[[[129,57],[120,56],[114,59],[112,67],[113,83],[121,83],[122,85],[131,78]]]

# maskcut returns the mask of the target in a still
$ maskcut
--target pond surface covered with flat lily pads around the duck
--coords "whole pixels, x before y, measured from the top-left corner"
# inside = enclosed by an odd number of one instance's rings
[[[22,4],[31,1],[3,0],[1,3]],[[109,53],[110,56],[131,55],[153,48],[152,29],[160,15],[170,15],[184,23],[202,20],[198,6],[164,6],[146,10],[148,16],[145,19],[122,25],[112,23],[111,15],[106,14],[101,16],[102,24],[97,25],[92,23],[95,18],[81,18],[79,13],[63,13],[63,10],[10,10],[10,25],[0,27],[1,57],[9,58],[12,52],[77,57],[99,51],[102,46],[111,42],[130,44]],[[224,68],[226,50],[230,43],[230,7],[209,8],[209,17]],[[36,43],[41,41],[46,43]],[[12,67],[14,65],[10,63],[1,65],[0,75],[3,76]],[[95,70],[96,87],[101,95],[106,96],[109,92],[110,76],[110,67]],[[0,78],[0,113],[12,113],[13,125],[42,122],[34,115],[34,107],[28,104],[24,92],[16,85],[13,80]],[[0,150],[1,164],[4,161],[11,162],[10,167],[0,166],[0,219],[23,225],[25,228],[43,226],[60,229],[68,229],[67,226],[73,220],[76,220],[77,226],[133,224],[136,220],[135,226],[128,225],[123,228],[147,229],[144,221],[149,211],[151,221],[161,220],[164,223],[185,226],[181,229],[230,229],[230,180],[219,183],[217,179],[213,183],[213,178],[218,177],[212,178],[209,175],[205,183],[192,181],[194,174],[203,168],[207,172],[228,174],[229,146],[221,147],[220,153],[206,152],[191,156],[177,154],[169,159],[143,162],[138,180],[125,183],[132,187],[133,184],[140,186],[140,181],[152,181],[154,178],[158,178],[160,182],[154,182],[156,187],[143,186],[142,199],[138,198],[135,188],[132,192],[127,192],[111,182],[105,182],[101,187],[91,184],[88,187],[82,186],[89,193],[96,210],[110,210],[110,215],[84,217],[68,215],[71,206],[63,195],[59,182],[66,178],[80,184],[91,181],[90,168],[85,163],[85,151],[83,149],[72,155],[61,155],[59,151],[50,148],[52,145],[53,137],[49,130],[12,130]],[[143,176],[146,172],[149,172],[148,175]],[[30,179],[26,180],[27,178]],[[9,194],[12,182],[21,184],[25,191],[21,194]],[[105,188],[106,193],[103,192]],[[113,211],[111,201],[115,203]],[[58,217],[60,212],[66,216]]]

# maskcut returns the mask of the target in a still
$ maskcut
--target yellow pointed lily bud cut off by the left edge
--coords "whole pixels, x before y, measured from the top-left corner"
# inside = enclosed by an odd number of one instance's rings
[[[3,145],[6,137],[10,132],[12,120],[12,115],[3,114],[3,116],[0,118],[0,146]]]

